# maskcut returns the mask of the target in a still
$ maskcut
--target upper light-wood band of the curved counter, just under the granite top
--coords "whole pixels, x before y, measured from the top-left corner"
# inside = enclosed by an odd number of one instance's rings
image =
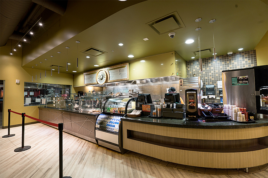
[[[177,128],[123,121],[123,128],[169,137],[201,140],[242,140],[268,136],[268,126],[235,129]]]

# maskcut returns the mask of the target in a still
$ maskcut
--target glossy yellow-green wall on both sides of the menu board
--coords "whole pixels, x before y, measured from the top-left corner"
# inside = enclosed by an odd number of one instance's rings
[[[145,62],[141,62],[141,60],[144,60]],[[182,60],[184,59],[182,58]],[[153,55],[133,61],[128,61],[128,63],[129,63],[129,80],[176,75],[174,51],[169,53]],[[185,71],[186,71],[186,63],[185,63]],[[74,74],[74,87],[76,88],[77,86],[83,86],[83,85],[84,85],[84,74],[83,73]]]

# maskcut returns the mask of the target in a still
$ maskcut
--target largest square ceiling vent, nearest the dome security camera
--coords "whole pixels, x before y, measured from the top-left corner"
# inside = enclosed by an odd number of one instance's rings
[[[150,28],[152,28],[159,35],[185,28],[183,21],[181,20],[177,11],[171,14],[165,15],[164,17],[153,20],[147,23]]]

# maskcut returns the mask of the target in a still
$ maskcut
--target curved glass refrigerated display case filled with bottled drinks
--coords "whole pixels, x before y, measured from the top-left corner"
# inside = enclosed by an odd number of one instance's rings
[[[97,117],[95,139],[99,145],[124,153],[121,118],[136,107],[134,98],[110,98]]]

